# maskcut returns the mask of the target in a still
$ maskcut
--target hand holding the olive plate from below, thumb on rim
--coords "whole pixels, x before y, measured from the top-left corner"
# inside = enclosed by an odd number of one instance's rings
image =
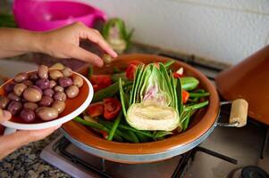
[[[7,110],[0,109],[0,123],[10,119],[11,113]],[[14,150],[19,149],[21,146],[29,142],[35,142],[45,138],[47,135],[52,134],[61,125],[55,127],[36,130],[36,131],[17,131],[13,134],[0,136],[0,159],[4,158]]]

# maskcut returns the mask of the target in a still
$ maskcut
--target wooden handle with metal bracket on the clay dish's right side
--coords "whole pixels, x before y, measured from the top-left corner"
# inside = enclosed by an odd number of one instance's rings
[[[218,126],[235,126],[241,127],[247,125],[248,101],[237,99],[235,101],[223,101],[221,106],[231,104],[231,113],[229,123],[216,123]]]

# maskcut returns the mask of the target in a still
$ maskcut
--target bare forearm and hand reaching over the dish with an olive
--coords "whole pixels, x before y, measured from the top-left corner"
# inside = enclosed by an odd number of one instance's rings
[[[81,22],[48,32],[33,32],[19,28],[0,28],[0,58],[22,53],[47,53],[56,58],[74,58],[103,66],[99,56],[80,47],[80,39],[97,44],[113,58],[117,53],[105,42],[103,36]]]

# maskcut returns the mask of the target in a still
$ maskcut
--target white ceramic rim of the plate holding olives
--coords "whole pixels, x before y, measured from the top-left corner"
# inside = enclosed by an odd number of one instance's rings
[[[92,101],[92,98],[93,98],[93,95],[94,95],[94,90],[93,90],[93,87],[92,87],[91,83],[88,81],[88,79],[86,77],[80,75],[77,72],[73,72],[73,73],[75,73],[76,75],[82,77],[83,80],[86,81],[86,84],[88,85],[88,97],[83,102],[83,104],[80,105],[80,107],[78,109],[75,109],[70,114],[68,114],[68,115],[66,115],[64,117],[60,117],[60,118],[57,118],[55,120],[48,121],[48,122],[45,122],[45,123],[21,124],[21,123],[14,123],[12,121],[5,121],[4,123],[1,123],[1,125],[4,125],[6,127],[10,127],[10,128],[15,128],[15,129],[18,129],[18,130],[39,130],[39,129],[45,129],[45,128],[49,128],[49,127],[56,126],[56,125],[61,125],[63,123],[66,123],[66,122],[70,121],[72,118],[79,116],[80,113],[82,113],[85,109],[88,108],[88,105]]]

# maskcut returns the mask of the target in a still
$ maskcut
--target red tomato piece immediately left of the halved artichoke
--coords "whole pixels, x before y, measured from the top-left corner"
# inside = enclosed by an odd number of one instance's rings
[[[115,98],[104,99],[104,117],[106,120],[111,120],[118,116],[122,109],[121,102]]]

